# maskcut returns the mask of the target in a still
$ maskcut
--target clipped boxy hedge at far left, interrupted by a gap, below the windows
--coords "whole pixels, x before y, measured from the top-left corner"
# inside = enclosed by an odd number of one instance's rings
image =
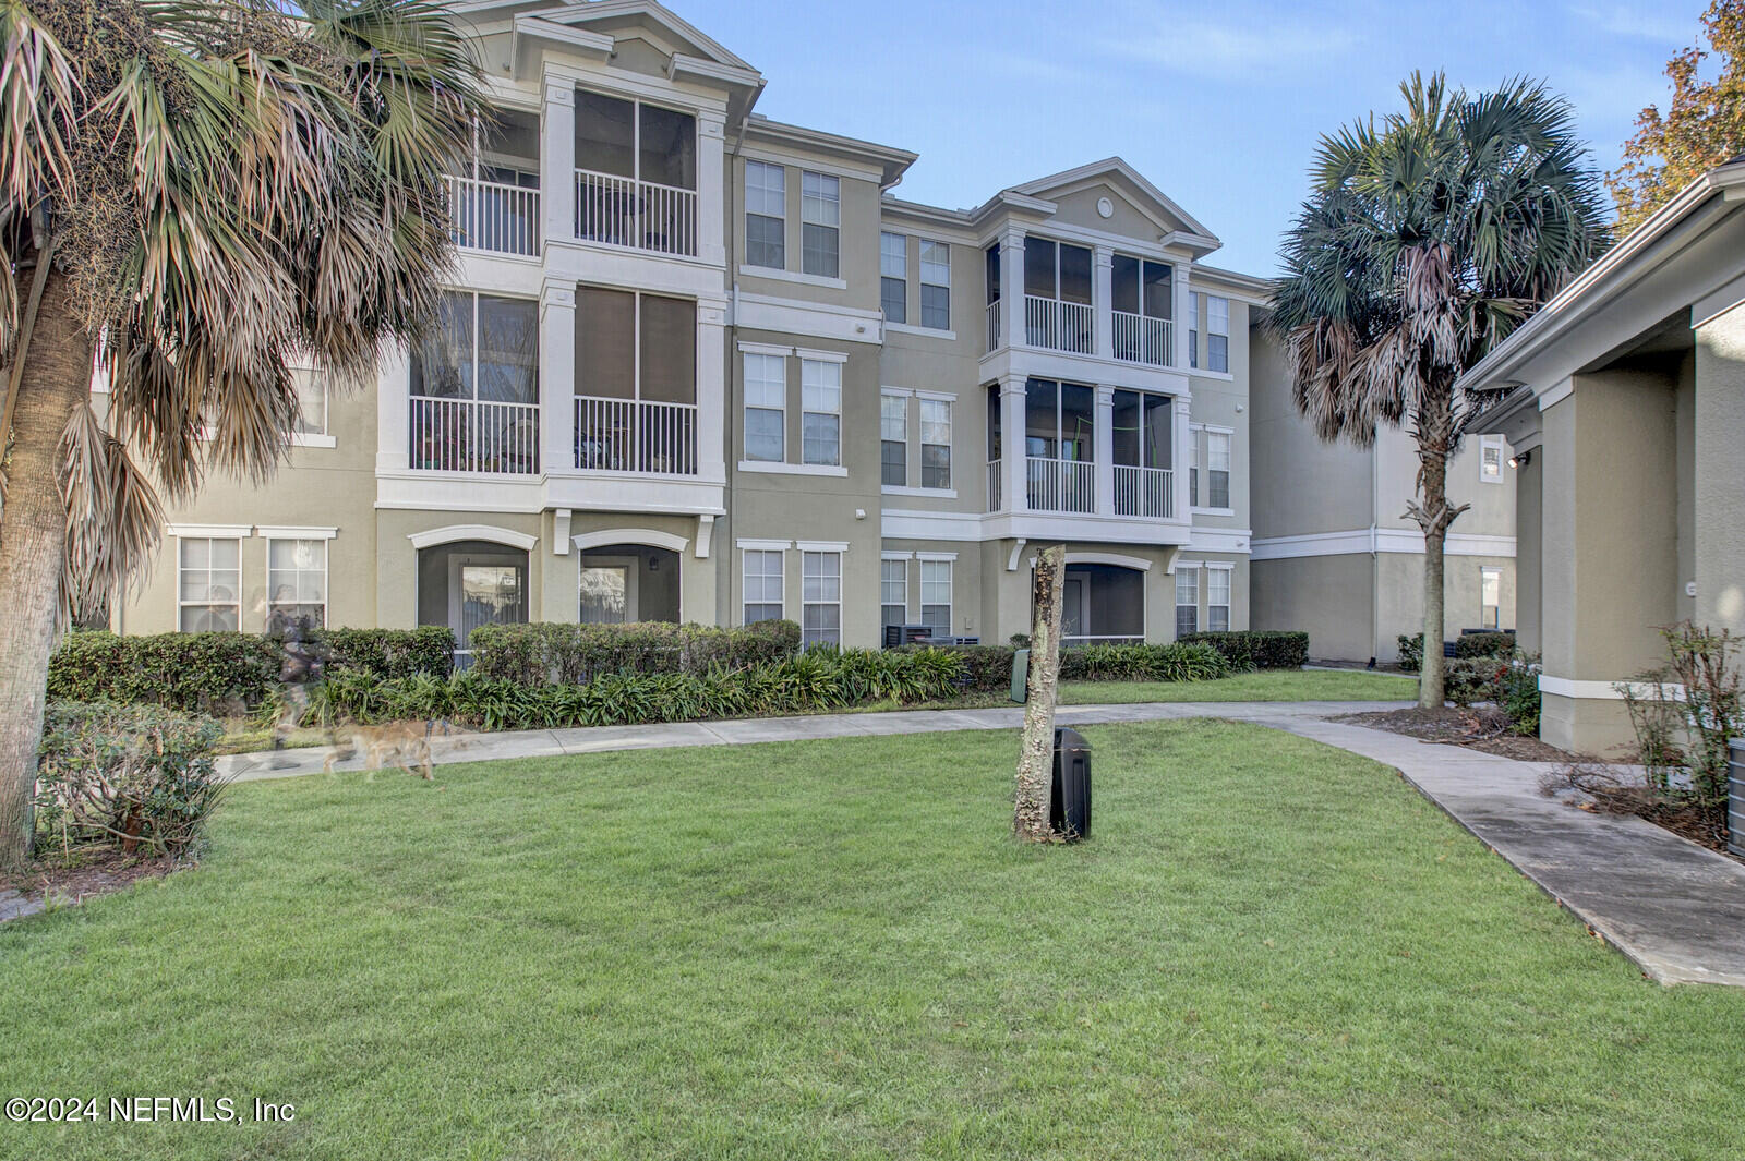
[[[321,629],[328,664],[405,678],[447,676],[454,633],[419,629]],[[113,701],[181,713],[232,715],[260,706],[279,683],[279,642],[255,633],[68,633],[49,659],[51,701]]]

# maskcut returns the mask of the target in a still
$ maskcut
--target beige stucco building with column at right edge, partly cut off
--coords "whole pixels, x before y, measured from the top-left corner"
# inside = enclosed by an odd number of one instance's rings
[[[1541,737],[1630,741],[1618,685],[1659,626],[1745,633],[1745,159],[1693,183],[1468,382],[1516,450],[1520,636]]]

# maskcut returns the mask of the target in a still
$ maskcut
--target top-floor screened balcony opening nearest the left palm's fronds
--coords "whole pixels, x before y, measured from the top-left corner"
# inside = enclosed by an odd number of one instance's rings
[[[539,253],[539,119],[508,110],[480,126],[473,159],[448,185],[454,242],[524,258]]]

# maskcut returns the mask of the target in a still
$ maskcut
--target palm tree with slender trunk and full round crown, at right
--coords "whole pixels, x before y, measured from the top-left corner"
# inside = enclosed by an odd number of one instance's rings
[[[1448,457],[1488,401],[1461,373],[1611,239],[1567,101],[1530,80],[1469,98],[1413,73],[1399,91],[1405,112],[1321,138],[1272,326],[1323,439],[1370,446],[1387,424],[1417,441],[1419,704],[1440,708],[1443,542],[1468,507],[1448,504]]]

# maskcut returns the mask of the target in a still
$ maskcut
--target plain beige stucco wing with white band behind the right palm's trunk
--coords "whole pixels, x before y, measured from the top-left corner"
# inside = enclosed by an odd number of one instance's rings
[[[1424,533],[1406,516],[1417,493],[1412,436],[1384,427],[1370,448],[1323,443],[1291,401],[1277,338],[1256,314],[1251,340],[1249,577],[1256,629],[1309,629],[1310,655],[1391,662],[1399,636],[1424,629]],[[1468,436],[1448,464],[1443,638],[1513,629],[1515,469],[1499,434]]]

